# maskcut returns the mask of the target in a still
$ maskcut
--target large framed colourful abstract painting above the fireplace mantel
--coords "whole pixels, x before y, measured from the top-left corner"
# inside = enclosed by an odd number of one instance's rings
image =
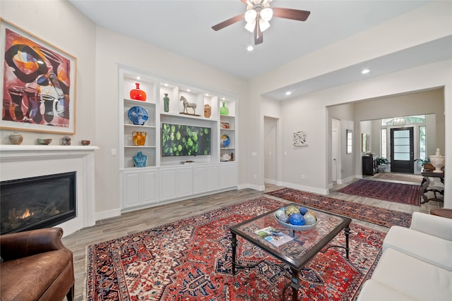
[[[76,133],[75,56],[0,18],[0,129]]]

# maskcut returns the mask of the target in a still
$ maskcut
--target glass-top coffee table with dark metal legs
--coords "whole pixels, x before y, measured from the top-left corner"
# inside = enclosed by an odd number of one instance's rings
[[[237,235],[248,240],[253,245],[260,247],[262,250],[266,251],[268,254],[272,255],[281,262],[287,264],[290,267],[290,283],[285,285],[282,295],[284,295],[285,290],[291,286],[292,287],[292,301],[297,300],[297,292],[299,288],[299,271],[302,269],[304,264],[309,262],[309,259],[314,257],[320,250],[323,249],[328,242],[331,242],[333,238],[344,231],[345,233],[345,246],[340,245],[330,245],[329,247],[342,247],[345,249],[346,259],[348,260],[349,246],[348,240],[350,235],[350,222],[351,219],[340,216],[338,214],[332,214],[327,211],[322,211],[319,209],[314,209],[311,207],[304,206],[302,204],[291,203],[287,204],[286,207],[294,205],[295,207],[306,207],[310,211],[314,211],[317,216],[316,227],[307,231],[293,231],[290,228],[281,226],[275,219],[275,209],[273,211],[267,212],[266,214],[261,214],[253,219],[244,221],[237,225],[231,226],[230,231],[232,233],[232,274],[235,275],[236,267],[251,268],[252,266],[242,266],[236,260],[236,247],[237,247]],[[280,233],[285,234],[284,236],[290,236],[290,241],[284,242],[282,245],[278,246],[278,243],[269,242],[269,237],[264,238],[264,235],[256,234],[261,233],[263,229],[268,227],[273,228],[277,231],[278,235]],[[271,235],[271,234],[270,234]],[[279,240],[280,237],[275,238]],[[260,263],[260,262],[259,262]],[[259,264],[258,263],[258,264]]]

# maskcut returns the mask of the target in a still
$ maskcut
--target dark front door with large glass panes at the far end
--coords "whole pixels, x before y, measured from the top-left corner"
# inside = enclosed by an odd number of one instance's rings
[[[415,173],[413,128],[391,128],[391,172]]]

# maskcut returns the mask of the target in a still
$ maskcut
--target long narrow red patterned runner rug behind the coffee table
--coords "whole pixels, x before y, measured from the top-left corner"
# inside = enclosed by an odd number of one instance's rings
[[[375,181],[376,182],[376,181]],[[281,188],[272,192],[266,192],[267,195],[287,199],[291,202],[304,204],[309,207],[322,209],[342,214],[352,219],[368,221],[377,225],[390,228],[391,226],[409,227],[411,223],[411,214],[394,211],[379,207],[369,206],[367,204],[355,204],[342,199],[334,199],[333,197],[325,197],[316,195],[311,192],[304,192],[292,188]]]

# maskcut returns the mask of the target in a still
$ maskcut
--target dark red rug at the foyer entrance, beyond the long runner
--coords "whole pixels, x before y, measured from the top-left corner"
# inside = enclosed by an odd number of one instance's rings
[[[382,199],[383,201],[396,202],[408,205],[420,205],[421,186],[399,184],[374,180],[357,180],[356,182],[338,190],[347,195]]]

